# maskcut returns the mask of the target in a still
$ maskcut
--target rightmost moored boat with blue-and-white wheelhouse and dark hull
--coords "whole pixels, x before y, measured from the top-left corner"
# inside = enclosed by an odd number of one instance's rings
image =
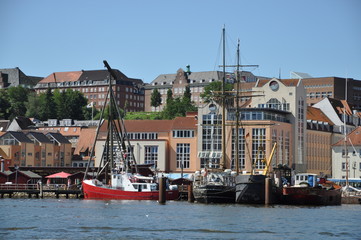
[[[281,203],[290,205],[341,205],[341,187],[317,175],[299,173],[294,186],[282,189]]]

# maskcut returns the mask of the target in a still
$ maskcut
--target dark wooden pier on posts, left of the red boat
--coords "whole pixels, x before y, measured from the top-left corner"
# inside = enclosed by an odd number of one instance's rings
[[[68,188],[65,184],[0,184],[0,197],[4,198],[8,196],[21,195],[32,198],[44,198],[44,197],[56,197],[59,198],[61,195],[66,198],[73,196],[75,198],[82,197],[82,191],[80,189]]]

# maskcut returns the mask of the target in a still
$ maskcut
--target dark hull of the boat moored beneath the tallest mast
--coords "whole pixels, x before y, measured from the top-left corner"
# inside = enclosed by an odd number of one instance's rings
[[[234,203],[235,187],[211,184],[194,186],[193,196],[199,203]]]

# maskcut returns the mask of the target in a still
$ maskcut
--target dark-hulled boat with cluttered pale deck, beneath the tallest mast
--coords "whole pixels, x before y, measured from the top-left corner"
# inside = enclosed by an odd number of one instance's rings
[[[196,173],[193,183],[194,200],[199,203],[234,203],[234,174],[229,169],[224,172],[202,170]]]

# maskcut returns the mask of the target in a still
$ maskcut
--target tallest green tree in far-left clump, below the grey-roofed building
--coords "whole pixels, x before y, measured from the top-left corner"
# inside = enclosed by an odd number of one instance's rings
[[[25,102],[28,100],[28,94],[29,90],[21,86],[10,87],[7,90],[8,101],[10,103],[10,119],[17,116],[25,116]]]

